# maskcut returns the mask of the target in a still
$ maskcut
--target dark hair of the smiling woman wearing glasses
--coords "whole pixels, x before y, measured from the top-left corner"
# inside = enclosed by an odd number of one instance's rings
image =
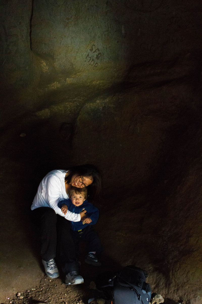
[[[88,186],[88,194],[91,197],[98,196],[101,191],[101,174],[98,168],[92,164],[79,165],[67,168],[70,173],[65,177],[65,182],[69,185],[74,174],[80,176],[92,176],[93,182]]]

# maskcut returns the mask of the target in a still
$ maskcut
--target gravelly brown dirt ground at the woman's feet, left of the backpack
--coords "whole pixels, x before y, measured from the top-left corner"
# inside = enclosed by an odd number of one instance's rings
[[[16,294],[6,297],[2,303],[87,304],[89,299],[94,298],[98,301],[102,301],[98,303],[111,304],[111,288],[107,287],[97,289],[94,281],[96,281],[95,273],[99,271],[94,271],[93,266],[90,266],[90,268],[90,271],[92,271],[94,276],[86,277],[84,284],[68,286],[64,284],[64,278],[50,279],[44,275],[41,276],[40,282],[37,286],[33,285],[33,287],[26,290],[19,289]],[[177,302],[166,300],[164,303],[175,304]]]

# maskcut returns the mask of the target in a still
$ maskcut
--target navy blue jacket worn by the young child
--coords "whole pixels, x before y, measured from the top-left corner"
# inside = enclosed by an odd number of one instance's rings
[[[84,224],[82,221],[80,222],[71,222],[71,229],[72,230],[81,230],[84,229],[88,225],[94,225],[98,221],[99,217],[99,210],[98,208],[94,207],[91,203],[87,201],[87,199],[83,202],[81,206],[75,206],[72,204],[71,199],[64,199],[63,201],[58,202],[58,207],[61,208],[62,204],[67,205],[68,210],[74,213],[80,213],[83,209],[87,211],[87,217],[89,217],[92,222],[90,224]]]

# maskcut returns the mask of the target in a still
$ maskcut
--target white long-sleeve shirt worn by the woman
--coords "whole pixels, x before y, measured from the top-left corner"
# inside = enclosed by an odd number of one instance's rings
[[[51,207],[56,214],[64,216],[65,219],[73,222],[81,220],[80,214],[67,211],[66,215],[58,208],[58,202],[68,199],[69,196],[65,190],[65,170],[53,170],[46,174],[38,186],[38,191],[31,205],[31,210],[39,207]]]

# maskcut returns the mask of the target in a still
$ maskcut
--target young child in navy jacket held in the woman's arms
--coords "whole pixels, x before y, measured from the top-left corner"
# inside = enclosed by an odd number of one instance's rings
[[[67,210],[79,213],[82,210],[87,211],[87,218],[80,222],[71,222],[71,235],[75,243],[77,258],[79,256],[79,242],[86,241],[88,244],[88,255],[85,262],[95,266],[100,266],[101,263],[96,257],[96,253],[101,253],[102,247],[98,234],[92,228],[96,224],[99,217],[98,208],[94,207],[87,201],[87,189],[71,187],[68,192],[70,199],[64,199],[58,202],[58,207],[66,214]]]

